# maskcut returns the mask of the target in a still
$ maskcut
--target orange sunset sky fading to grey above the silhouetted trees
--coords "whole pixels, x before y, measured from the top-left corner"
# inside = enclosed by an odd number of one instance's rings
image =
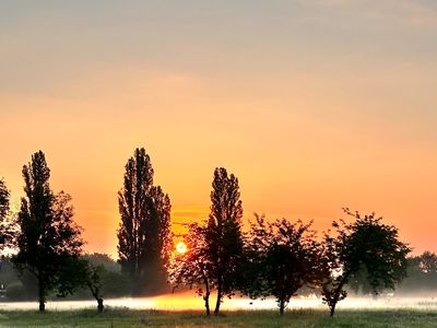
[[[0,177],[17,209],[43,150],[87,251],[117,256],[117,190],[144,147],[172,221],[213,171],[245,220],[377,212],[437,251],[434,0],[0,0]]]

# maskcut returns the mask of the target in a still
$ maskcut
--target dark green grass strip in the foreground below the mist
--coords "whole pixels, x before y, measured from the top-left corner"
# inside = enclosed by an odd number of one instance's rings
[[[108,309],[78,312],[0,312],[0,327],[437,327],[437,312],[425,311],[296,311],[223,313],[206,318],[200,312]]]

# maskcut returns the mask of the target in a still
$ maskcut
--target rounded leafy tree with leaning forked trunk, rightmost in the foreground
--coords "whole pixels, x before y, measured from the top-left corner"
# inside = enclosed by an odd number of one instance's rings
[[[411,251],[399,241],[398,229],[381,223],[375,213],[361,215],[344,209],[355,219],[346,224],[333,222],[334,235],[324,235],[323,253],[319,260],[322,300],[333,316],[336,303],[347,295],[344,286],[351,277],[365,269],[366,280],[374,293],[393,290],[406,274],[406,255]]]

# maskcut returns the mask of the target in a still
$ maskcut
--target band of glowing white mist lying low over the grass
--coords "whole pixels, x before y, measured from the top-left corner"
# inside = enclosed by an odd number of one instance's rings
[[[434,294],[437,295],[437,294]],[[437,297],[432,294],[410,294],[409,296],[397,296],[392,294],[381,294],[378,296],[350,295],[346,300],[339,303],[340,311],[423,311],[437,312]],[[214,296],[214,294],[213,294]],[[151,297],[118,297],[105,300],[106,306],[123,308],[126,311],[160,311],[160,312],[202,312],[203,300],[193,291],[181,291],[176,293],[162,294]],[[71,312],[71,311],[95,311],[94,300],[71,300],[54,298],[47,302],[47,311]],[[235,295],[232,300],[225,298],[222,307],[226,312],[251,312],[251,311],[272,311],[277,312],[277,303],[274,297],[267,300],[251,300]],[[0,311],[7,312],[33,312],[37,309],[35,301],[26,302],[0,302]],[[327,312],[328,306],[322,303],[320,297],[315,295],[295,296],[291,300],[287,312],[293,311],[317,311]]]

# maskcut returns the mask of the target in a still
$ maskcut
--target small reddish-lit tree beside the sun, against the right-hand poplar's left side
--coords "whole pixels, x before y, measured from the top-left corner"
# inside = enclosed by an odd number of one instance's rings
[[[177,254],[172,261],[170,283],[178,288],[180,284],[196,286],[196,292],[204,301],[209,316],[211,285],[211,260],[206,248],[205,227],[198,223],[188,224],[188,233],[184,235],[187,245],[185,254]]]

